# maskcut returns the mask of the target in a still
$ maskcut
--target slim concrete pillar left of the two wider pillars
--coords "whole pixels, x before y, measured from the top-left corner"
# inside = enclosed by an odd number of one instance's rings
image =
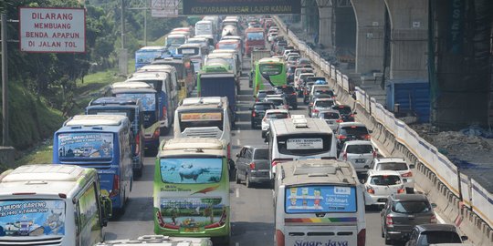
[[[319,5],[319,44],[332,48],[332,4],[331,1],[317,0]]]

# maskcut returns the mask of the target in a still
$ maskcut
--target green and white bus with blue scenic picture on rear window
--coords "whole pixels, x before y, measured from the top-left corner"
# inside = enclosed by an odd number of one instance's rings
[[[154,169],[154,233],[227,243],[231,234],[228,169],[218,139],[163,141]]]

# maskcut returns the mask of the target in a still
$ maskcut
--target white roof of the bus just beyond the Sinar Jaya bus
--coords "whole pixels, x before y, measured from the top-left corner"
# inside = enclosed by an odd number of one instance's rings
[[[292,135],[292,134],[331,134],[332,129],[321,118],[284,118],[270,121],[272,134]]]

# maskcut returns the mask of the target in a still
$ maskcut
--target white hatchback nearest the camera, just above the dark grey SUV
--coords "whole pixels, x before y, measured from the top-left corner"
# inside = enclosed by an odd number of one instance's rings
[[[372,172],[363,185],[366,206],[383,206],[390,195],[405,192],[403,179],[396,171]]]

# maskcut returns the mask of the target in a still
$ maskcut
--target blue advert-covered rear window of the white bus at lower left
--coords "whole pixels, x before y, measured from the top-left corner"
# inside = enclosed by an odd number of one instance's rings
[[[64,221],[63,200],[0,200],[0,238],[63,236]]]

